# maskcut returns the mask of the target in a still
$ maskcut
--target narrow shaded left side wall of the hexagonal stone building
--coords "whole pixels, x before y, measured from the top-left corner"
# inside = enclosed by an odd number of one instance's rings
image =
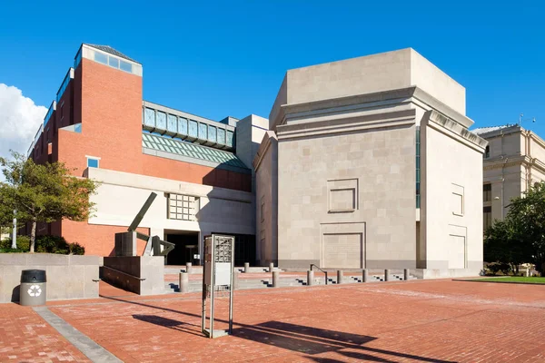
[[[257,260],[278,263],[278,139],[269,131],[254,161]]]

